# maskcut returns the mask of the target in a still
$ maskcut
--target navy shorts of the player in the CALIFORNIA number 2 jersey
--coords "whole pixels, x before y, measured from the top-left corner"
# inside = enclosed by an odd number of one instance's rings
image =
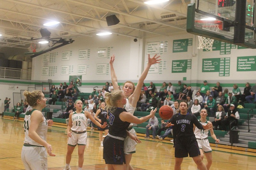
[[[175,158],[196,157],[200,155],[200,150],[196,137],[183,136],[175,139]]]

